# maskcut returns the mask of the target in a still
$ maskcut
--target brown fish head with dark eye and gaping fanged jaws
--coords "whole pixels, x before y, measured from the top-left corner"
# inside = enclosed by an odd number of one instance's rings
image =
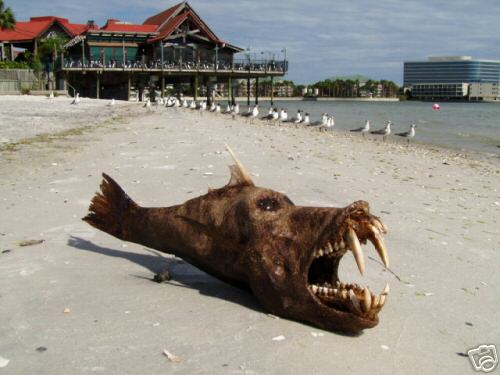
[[[368,242],[389,265],[382,239],[387,227],[370,213],[367,202],[305,207],[250,181],[230,189],[231,198],[223,199],[224,231],[242,246],[246,279],[266,309],[332,331],[359,332],[378,324],[388,286],[374,294],[339,279],[347,253],[364,273],[361,245]]]

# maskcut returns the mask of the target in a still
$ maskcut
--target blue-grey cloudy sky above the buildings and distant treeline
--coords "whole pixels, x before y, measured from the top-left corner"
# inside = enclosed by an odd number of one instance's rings
[[[142,23],[178,1],[5,0],[19,21],[56,15]],[[403,62],[468,55],[500,60],[500,0],[191,0],[219,36],[283,58],[296,83],[362,74],[401,84]],[[262,53],[263,52],[263,53]]]

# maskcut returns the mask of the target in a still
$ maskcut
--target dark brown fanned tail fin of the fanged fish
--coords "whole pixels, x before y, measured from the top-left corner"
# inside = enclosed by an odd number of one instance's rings
[[[140,210],[137,205],[107,174],[102,174],[101,191],[89,206],[89,213],[82,220],[117,238],[127,240],[130,219]]]

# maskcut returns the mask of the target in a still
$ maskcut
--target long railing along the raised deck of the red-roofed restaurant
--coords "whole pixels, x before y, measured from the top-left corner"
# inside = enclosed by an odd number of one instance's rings
[[[101,70],[166,70],[166,71],[226,71],[226,72],[262,72],[286,73],[288,61],[277,60],[234,60],[219,61],[162,61],[145,57],[135,60],[123,59],[82,59],[81,56],[66,57],[59,60],[56,70],[101,69]]]

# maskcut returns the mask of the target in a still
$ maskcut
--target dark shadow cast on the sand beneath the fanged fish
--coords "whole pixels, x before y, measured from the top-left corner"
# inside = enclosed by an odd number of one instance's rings
[[[153,276],[158,272],[168,269],[172,275],[172,280],[180,283],[180,285],[177,283],[170,283],[172,286],[196,289],[203,295],[224,299],[226,301],[245,306],[249,309],[265,313],[255,297],[250,293],[226,284],[183,261],[182,259],[165,258],[162,253],[149,249],[145,249],[145,251],[148,251],[150,254],[137,254],[110,249],[98,246],[90,241],[74,236],[70,237],[68,245],[78,250],[90,251],[109,257],[122,258],[136,263],[151,271],[151,277],[148,278],[142,275],[131,276],[150,280],[152,284],[156,285],[158,284],[153,281]]]

